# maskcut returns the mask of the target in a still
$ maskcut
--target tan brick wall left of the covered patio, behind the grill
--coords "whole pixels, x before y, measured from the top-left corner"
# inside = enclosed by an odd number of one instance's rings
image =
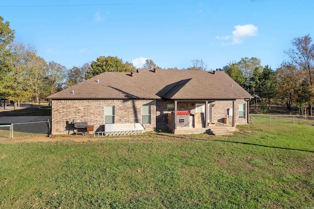
[[[52,134],[67,134],[66,121],[87,122],[94,131],[103,131],[105,105],[114,105],[115,123],[142,123],[142,105],[151,105],[151,124],[156,129],[156,100],[52,100]]]

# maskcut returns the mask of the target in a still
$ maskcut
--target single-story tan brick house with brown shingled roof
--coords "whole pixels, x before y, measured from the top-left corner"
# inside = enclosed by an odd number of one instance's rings
[[[52,134],[67,121],[144,124],[146,131],[205,132],[211,125],[248,124],[252,96],[224,72],[137,69],[105,72],[60,91],[52,101]],[[189,131],[188,131],[189,130]]]

